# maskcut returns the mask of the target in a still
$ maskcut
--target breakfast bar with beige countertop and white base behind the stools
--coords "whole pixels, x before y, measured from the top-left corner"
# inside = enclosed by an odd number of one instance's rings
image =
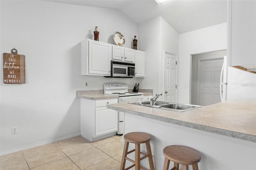
[[[171,144],[198,150],[202,157],[198,166],[202,170],[256,169],[255,101],[226,101],[184,112],[128,103],[107,107],[126,113],[124,134],[152,134],[155,169],[162,169],[162,150]]]

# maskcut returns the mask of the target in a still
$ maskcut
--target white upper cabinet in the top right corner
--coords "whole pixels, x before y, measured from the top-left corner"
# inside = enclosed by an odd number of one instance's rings
[[[256,1],[228,1],[228,59],[231,66],[256,66]]]

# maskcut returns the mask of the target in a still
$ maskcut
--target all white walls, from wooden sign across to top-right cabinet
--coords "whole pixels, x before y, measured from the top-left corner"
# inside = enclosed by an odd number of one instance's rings
[[[178,98],[189,103],[189,86],[182,84],[190,79],[190,55],[226,49],[226,24],[178,36],[161,17],[138,25],[119,10],[107,8],[38,0],[1,0],[0,8],[1,55],[15,47],[26,57],[26,83],[0,84],[0,154],[80,134],[77,90],[100,90],[103,83],[122,81],[162,93],[164,51],[179,53]],[[114,44],[112,35],[120,31],[125,47],[132,47],[137,36],[138,49],[146,51],[146,78],[80,75],[80,42],[93,39],[95,26],[101,42]],[[18,127],[18,134],[11,134],[12,127]]]

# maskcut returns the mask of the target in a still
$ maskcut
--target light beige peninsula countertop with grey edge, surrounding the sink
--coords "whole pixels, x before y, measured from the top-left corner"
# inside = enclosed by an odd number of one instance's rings
[[[107,108],[256,142],[256,102],[225,101],[184,112],[117,103]]]

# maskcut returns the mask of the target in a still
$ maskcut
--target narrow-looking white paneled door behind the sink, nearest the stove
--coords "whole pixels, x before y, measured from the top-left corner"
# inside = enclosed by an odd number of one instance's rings
[[[164,101],[176,102],[177,55],[164,53]]]

